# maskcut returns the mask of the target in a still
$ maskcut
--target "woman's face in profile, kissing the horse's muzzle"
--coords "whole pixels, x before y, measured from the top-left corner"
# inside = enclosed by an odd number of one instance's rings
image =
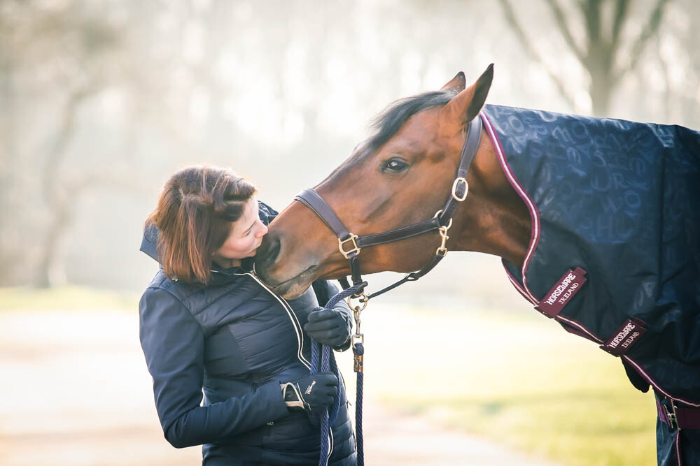
[[[214,261],[229,267],[240,265],[241,259],[255,256],[267,226],[258,217],[258,200],[248,199],[243,215],[233,222],[231,233],[223,245],[214,252]]]

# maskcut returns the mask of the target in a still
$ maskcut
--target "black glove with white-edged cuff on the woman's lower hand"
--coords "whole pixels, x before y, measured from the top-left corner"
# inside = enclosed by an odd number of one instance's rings
[[[280,386],[288,407],[322,411],[330,406],[338,393],[338,378],[330,372],[321,372]]]

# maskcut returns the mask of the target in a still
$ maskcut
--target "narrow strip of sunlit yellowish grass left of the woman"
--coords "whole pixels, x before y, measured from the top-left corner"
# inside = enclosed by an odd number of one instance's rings
[[[85,286],[59,286],[49,289],[29,287],[0,288],[0,311],[8,310],[137,310],[139,295]]]

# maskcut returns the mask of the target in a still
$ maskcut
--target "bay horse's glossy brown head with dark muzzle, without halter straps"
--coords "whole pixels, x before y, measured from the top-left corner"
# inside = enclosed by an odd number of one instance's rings
[[[395,101],[377,117],[376,132],[358,144],[349,159],[314,191],[355,235],[388,231],[435,217],[453,186],[466,128],[479,115],[492,79],[490,65],[469,87],[460,72],[438,91]],[[479,152],[490,144],[488,138],[481,141]],[[470,240],[465,233],[475,231],[483,219],[469,221],[473,217],[470,210],[488,209],[483,194],[498,196],[498,189],[510,189],[495,159],[480,158],[477,153],[468,172],[470,196],[452,218],[452,231],[458,234],[453,235],[450,249],[477,250],[473,238]],[[495,176],[489,174],[493,170]],[[498,208],[490,215],[497,218]],[[489,214],[485,218],[488,223]],[[425,233],[366,247],[361,251],[361,269],[363,273],[419,270],[430,262],[439,246],[440,238],[435,233]],[[487,247],[485,252],[502,251],[489,251]],[[517,254],[511,251],[516,261]],[[285,298],[299,296],[318,278],[337,279],[350,273],[336,235],[299,201],[288,205],[269,225],[269,233],[258,249],[255,270],[263,282]]]

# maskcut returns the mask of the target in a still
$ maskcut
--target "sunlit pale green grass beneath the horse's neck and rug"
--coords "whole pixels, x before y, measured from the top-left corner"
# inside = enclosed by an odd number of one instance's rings
[[[365,393],[563,465],[655,465],[653,395],[617,358],[526,312],[370,307]]]

